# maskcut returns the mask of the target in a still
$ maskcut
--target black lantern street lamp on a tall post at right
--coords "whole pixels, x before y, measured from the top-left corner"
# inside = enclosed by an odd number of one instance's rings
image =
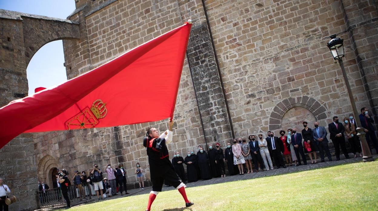
[[[344,54],[344,45],[343,39],[340,39],[339,37],[336,37],[336,34],[333,34],[330,36],[331,40],[327,43],[328,48],[331,51],[332,57],[335,60],[339,60],[339,65],[341,67],[342,75],[344,76],[345,85],[347,86],[347,91],[349,95],[350,103],[352,104],[353,113],[356,117],[357,126],[361,126],[361,122],[359,120],[359,113],[357,112],[356,103],[354,101],[352,90],[350,89],[349,80],[347,78],[347,74],[344,69],[344,63],[342,63],[342,57],[345,56]],[[361,142],[361,148],[363,153],[363,161],[373,161],[372,153],[370,152],[369,146],[367,145],[366,138],[365,138],[365,132],[364,128],[356,128],[356,131],[358,131],[357,136],[359,137],[359,140]]]

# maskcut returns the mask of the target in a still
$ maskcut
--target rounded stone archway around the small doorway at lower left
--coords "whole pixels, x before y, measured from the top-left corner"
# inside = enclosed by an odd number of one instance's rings
[[[53,156],[44,156],[38,163],[38,178],[53,187],[51,174],[57,166],[58,162]]]

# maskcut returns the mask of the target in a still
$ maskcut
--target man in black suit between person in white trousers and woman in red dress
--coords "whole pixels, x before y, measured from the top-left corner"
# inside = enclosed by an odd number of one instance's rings
[[[268,137],[265,139],[266,143],[268,143],[268,149],[270,156],[272,159],[274,159],[274,162],[277,165],[277,168],[280,168],[282,166],[283,168],[286,168],[285,162],[283,161],[281,152],[283,152],[283,143],[281,140],[279,140],[278,137],[274,136],[274,133],[271,131],[268,131]]]

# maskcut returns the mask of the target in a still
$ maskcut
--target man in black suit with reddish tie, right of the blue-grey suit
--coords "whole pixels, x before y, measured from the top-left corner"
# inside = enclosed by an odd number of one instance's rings
[[[339,117],[333,117],[333,122],[328,125],[330,138],[335,146],[336,160],[340,160],[340,148],[345,158],[349,158],[347,148],[345,147],[344,126],[339,122]]]

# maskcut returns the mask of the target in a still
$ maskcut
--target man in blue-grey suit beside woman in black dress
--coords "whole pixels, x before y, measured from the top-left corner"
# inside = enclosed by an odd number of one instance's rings
[[[324,127],[319,126],[319,122],[314,122],[315,128],[312,130],[316,145],[318,145],[320,151],[320,157],[324,162],[324,151],[327,153],[329,161],[332,161],[330,150],[328,149],[327,131]]]

